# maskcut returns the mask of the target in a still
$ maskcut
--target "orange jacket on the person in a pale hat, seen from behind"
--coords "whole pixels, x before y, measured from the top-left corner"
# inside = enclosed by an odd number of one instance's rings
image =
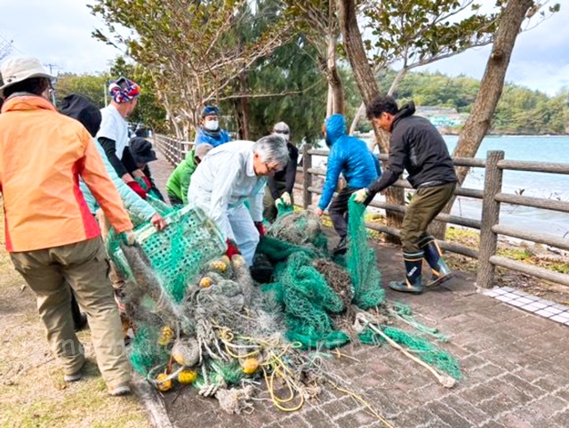
[[[9,252],[65,246],[100,236],[81,176],[117,232],[132,222],[83,125],[35,95],[4,101],[0,114],[0,192]]]

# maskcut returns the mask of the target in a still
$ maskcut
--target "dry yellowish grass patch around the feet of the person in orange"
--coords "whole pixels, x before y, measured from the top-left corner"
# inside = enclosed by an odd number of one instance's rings
[[[0,222],[4,211],[0,199]],[[81,332],[88,358],[84,379],[63,382],[37,316],[36,296],[14,271],[0,227],[0,426],[38,428],[149,428],[135,396],[110,397],[94,359],[89,331]]]

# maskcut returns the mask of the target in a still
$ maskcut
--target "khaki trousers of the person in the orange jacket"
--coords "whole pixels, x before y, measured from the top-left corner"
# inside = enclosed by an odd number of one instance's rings
[[[37,296],[37,310],[47,341],[66,375],[84,365],[70,310],[71,290],[89,320],[100,373],[109,387],[128,382],[131,369],[124,352],[121,322],[108,281],[108,258],[100,238],[67,246],[10,254],[17,271]]]

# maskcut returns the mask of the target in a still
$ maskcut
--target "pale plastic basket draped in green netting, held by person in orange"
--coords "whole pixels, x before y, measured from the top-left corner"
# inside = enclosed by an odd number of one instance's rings
[[[184,206],[165,215],[164,220],[168,222],[166,229],[158,232],[146,223],[134,235],[164,290],[179,302],[183,297],[180,288],[183,290],[195,279],[204,262],[225,252],[226,243],[215,223],[200,208]],[[117,267],[132,278],[120,247],[111,254]]]

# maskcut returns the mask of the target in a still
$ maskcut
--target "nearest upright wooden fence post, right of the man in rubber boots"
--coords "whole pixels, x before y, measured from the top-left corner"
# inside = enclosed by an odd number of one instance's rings
[[[490,257],[496,254],[498,235],[493,232],[492,228],[500,222],[500,202],[496,200],[496,195],[501,192],[502,171],[498,167],[498,162],[503,158],[504,152],[501,150],[489,151],[486,155],[477,273],[477,287],[482,288],[492,287],[494,279],[495,268],[490,262]]]

